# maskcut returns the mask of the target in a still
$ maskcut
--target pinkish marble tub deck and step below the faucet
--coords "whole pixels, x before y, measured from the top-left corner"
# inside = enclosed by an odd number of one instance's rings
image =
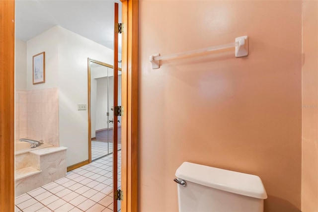
[[[15,155],[15,196],[66,176],[66,147],[47,147]]]

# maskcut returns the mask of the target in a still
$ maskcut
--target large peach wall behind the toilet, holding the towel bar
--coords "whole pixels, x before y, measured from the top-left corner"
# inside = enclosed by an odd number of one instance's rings
[[[141,0],[139,211],[177,211],[184,162],[258,175],[265,212],[301,209],[301,1]],[[164,61],[149,56],[234,42],[234,50]]]

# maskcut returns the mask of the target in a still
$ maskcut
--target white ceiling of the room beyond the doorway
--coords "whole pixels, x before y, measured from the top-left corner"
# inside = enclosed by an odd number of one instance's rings
[[[113,49],[114,2],[121,22],[120,0],[16,0],[15,37],[28,41],[59,25]]]

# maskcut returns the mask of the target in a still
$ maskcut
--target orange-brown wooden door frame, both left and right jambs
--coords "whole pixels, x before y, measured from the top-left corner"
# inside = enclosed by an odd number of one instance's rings
[[[138,210],[138,0],[121,0],[123,212]],[[15,1],[0,0],[0,212],[14,211]]]

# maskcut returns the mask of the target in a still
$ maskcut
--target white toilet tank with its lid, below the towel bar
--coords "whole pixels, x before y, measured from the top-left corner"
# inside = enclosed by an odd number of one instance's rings
[[[175,176],[179,212],[263,212],[267,194],[258,176],[189,162]]]

